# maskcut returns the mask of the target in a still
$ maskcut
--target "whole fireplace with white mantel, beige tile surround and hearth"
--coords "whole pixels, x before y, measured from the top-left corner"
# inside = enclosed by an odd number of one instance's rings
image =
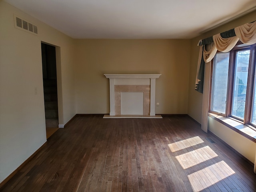
[[[110,86],[110,114],[104,118],[162,118],[155,114],[156,78],[160,75],[104,74]]]

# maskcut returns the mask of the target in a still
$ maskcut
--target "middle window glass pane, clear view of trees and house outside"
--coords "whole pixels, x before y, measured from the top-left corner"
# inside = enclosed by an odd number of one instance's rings
[[[236,52],[232,116],[244,119],[250,50]]]

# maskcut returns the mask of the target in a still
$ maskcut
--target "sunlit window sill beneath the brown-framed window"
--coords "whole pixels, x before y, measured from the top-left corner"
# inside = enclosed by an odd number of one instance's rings
[[[256,143],[256,131],[250,127],[220,115],[208,113],[208,116]]]

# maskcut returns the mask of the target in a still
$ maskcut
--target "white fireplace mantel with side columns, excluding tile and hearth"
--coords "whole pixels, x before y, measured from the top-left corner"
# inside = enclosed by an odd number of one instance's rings
[[[106,78],[110,81],[110,116],[115,116],[115,85],[118,79],[131,79],[138,80],[138,85],[140,85],[144,80],[148,81],[150,85],[150,116],[155,116],[155,95],[156,95],[156,78],[159,78],[161,74],[104,74]],[[115,81],[116,79],[116,81]],[[120,83],[120,82],[119,82]]]

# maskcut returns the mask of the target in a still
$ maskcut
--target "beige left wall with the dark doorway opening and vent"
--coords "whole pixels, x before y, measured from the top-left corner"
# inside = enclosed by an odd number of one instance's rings
[[[38,36],[14,28],[14,14],[35,24]],[[0,182],[46,142],[41,41],[58,46],[65,124],[75,115],[73,39],[0,1]]]

